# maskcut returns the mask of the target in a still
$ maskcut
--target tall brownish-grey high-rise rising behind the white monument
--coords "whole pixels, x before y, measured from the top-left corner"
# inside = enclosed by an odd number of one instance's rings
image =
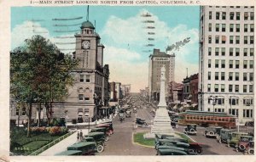
[[[159,101],[160,99],[160,69],[166,66],[166,102],[170,101],[170,83],[174,81],[175,54],[160,52],[160,49],[154,49],[149,56],[149,95],[150,101]]]

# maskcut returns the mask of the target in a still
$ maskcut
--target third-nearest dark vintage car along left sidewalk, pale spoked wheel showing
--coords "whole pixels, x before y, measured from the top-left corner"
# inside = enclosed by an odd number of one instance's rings
[[[96,142],[96,150],[98,153],[102,153],[104,150],[105,135],[103,132],[90,132],[83,138],[83,140],[86,142]]]

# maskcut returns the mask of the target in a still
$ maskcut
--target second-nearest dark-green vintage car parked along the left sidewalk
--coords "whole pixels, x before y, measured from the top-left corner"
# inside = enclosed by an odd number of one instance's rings
[[[76,142],[67,147],[67,150],[79,150],[83,155],[95,155],[96,142]]]

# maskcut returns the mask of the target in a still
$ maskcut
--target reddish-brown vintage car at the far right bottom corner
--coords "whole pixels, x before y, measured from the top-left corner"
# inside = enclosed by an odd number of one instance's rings
[[[254,142],[251,136],[241,136],[239,142],[236,145],[236,152],[247,152],[250,148],[253,148]],[[251,151],[251,150],[250,150]],[[253,151],[254,152],[254,151]]]

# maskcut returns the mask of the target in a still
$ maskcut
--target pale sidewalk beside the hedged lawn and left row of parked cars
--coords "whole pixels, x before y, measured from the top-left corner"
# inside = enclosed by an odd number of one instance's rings
[[[115,114],[116,116],[117,114]],[[113,120],[112,118],[110,118],[109,120]],[[108,120],[97,120],[97,125],[101,124],[103,122],[106,122]],[[84,125],[88,125],[88,123],[80,123],[80,124],[84,124]],[[43,153],[38,154],[39,156],[54,156],[55,154],[61,153],[62,151],[66,151],[67,147],[70,145],[73,145],[73,143],[77,142],[77,135],[78,135],[78,131],[80,130],[74,130],[75,132],[63,139],[61,142],[56,143],[54,146],[48,148],[47,150],[45,150]],[[88,134],[88,129],[82,129],[81,131],[83,131],[83,135],[87,135]]]

